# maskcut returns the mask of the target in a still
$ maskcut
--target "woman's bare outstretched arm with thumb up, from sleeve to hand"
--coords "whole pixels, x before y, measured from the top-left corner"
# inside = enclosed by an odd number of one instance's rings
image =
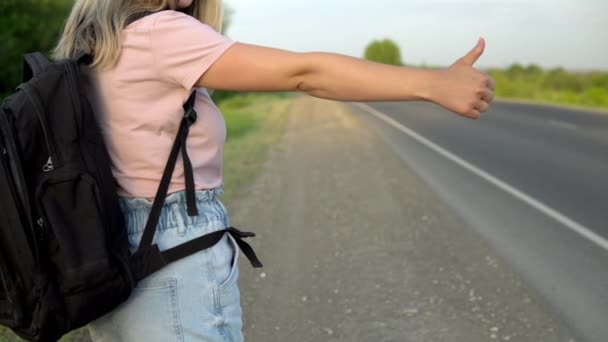
[[[485,41],[445,70],[390,66],[332,53],[295,53],[236,43],[198,86],[235,91],[299,91],[340,101],[435,102],[477,118],[494,99],[493,81],[475,70]]]

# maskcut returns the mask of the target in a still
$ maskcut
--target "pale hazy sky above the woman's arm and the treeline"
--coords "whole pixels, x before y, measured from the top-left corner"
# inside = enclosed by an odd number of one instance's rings
[[[413,65],[448,66],[479,37],[476,66],[608,71],[608,0],[225,0],[234,40],[362,57],[390,38]]]

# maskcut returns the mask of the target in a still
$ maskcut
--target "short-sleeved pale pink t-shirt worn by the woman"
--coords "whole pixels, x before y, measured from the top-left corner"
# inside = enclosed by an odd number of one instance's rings
[[[121,55],[99,72],[104,106],[100,125],[119,195],[154,197],[183,115],[183,103],[200,76],[235,42],[176,11],[128,25]],[[207,90],[198,88],[198,120],[190,127],[188,154],[197,189],[222,185],[226,125]],[[181,156],[169,193],[185,189]]]

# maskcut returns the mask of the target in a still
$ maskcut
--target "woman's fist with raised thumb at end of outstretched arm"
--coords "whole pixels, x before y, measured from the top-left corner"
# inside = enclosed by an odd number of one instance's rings
[[[429,99],[438,105],[467,118],[477,119],[494,100],[494,81],[473,68],[483,54],[483,38],[466,56],[452,66],[437,72]]]

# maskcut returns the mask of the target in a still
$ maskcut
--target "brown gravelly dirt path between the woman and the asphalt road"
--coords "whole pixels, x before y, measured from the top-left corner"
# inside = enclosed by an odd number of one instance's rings
[[[230,203],[245,339],[578,341],[346,106],[298,98],[263,175]]]

